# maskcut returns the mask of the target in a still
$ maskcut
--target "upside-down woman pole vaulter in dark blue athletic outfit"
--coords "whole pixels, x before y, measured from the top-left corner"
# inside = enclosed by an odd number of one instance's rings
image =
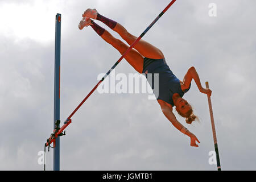
[[[79,29],[82,30],[84,27],[91,26],[102,39],[117,49],[121,55],[129,48],[129,46],[121,40],[114,38],[107,30],[96,24],[92,19],[100,20],[105,23],[113,31],[117,32],[129,45],[133,44],[137,39],[137,37],[131,35],[121,24],[102,16],[96,9],[87,9],[82,16],[83,18],[79,23]],[[201,93],[205,93],[208,96],[212,94],[210,89],[203,88],[201,85],[196,69],[194,67],[189,68],[183,81],[180,81],[168,67],[162,51],[142,39],[139,40],[129,53],[127,53],[125,59],[139,73],[144,73],[146,75],[148,73],[159,74],[159,94],[157,96],[157,101],[163,114],[177,130],[180,130],[181,133],[188,135],[188,137],[191,138],[192,147],[198,147],[196,142],[199,142],[199,139],[181,125],[172,112],[172,107],[175,106],[177,113],[179,113],[181,117],[186,118],[185,121],[189,124],[197,118],[196,115],[193,114],[192,106],[182,98],[190,89],[192,79],[195,80]]]

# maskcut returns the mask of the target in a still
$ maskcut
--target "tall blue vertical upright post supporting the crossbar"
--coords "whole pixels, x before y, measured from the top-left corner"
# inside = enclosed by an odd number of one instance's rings
[[[54,121],[60,119],[60,27],[61,14],[56,14],[55,21],[55,75],[54,75]],[[56,138],[55,148],[53,149],[53,170],[60,170],[60,137]]]

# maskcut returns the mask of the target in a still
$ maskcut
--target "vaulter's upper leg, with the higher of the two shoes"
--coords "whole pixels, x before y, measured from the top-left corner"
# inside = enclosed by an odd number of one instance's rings
[[[88,16],[89,18],[97,19],[105,23],[108,27],[117,32],[129,45],[131,45],[137,39],[136,36],[131,35],[123,26],[121,26],[121,24],[115,22],[112,19],[106,18],[105,16],[102,16],[97,12],[96,9],[86,10],[83,16]],[[139,51],[139,53],[141,53],[144,57],[151,59],[164,58],[164,55],[160,49],[152,46],[150,43],[142,39],[139,40],[137,44],[135,44],[134,48],[137,49],[137,51]]]

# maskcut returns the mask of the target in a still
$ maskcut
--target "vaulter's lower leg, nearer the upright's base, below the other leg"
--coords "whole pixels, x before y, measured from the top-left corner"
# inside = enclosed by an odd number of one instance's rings
[[[79,24],[80,29],[84,28],[85,26],[91,26],[93,30],[101,36],[102,39],[104,39],[107,43],[111,44],[115,49],[117,49],[121,53],[121,55],[123,55],[123,53],[125,53],[125,51],[129,48],[121,40],[114,38],[104,28],[102,28],[95,22],[92,23],[89,18],[86,18],[86,20],[81,21]],[[124,58],[136,71],[142,73],[144,60],[142,55],[138,51],[136,51],[135,49],[131,49]]]

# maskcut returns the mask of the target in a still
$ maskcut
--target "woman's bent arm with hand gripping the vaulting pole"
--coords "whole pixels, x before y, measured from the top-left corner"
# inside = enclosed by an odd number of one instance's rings
[[[201,93],[205,93],[205,94],[208,94],[208,96],[210,96],[212,94],[212,90],[210,89],[205,89],[203,88],[203,86],[201,85],[201,81],[200,81],[200,78],[199,78],[199,75],[198,73],[196,72],[196,68],[195,67],[191,67],[188,69],[188,72],[186,73],[186,75],[184,76],[184,79],[183,79],[183,87],[185,89],[188,89],[189,88],[189,85],[192,81],[192,79],[195,80],[196,82],[196,85],[199,89],[199,91]],[[183,89],[183,88],[181,88]]]

